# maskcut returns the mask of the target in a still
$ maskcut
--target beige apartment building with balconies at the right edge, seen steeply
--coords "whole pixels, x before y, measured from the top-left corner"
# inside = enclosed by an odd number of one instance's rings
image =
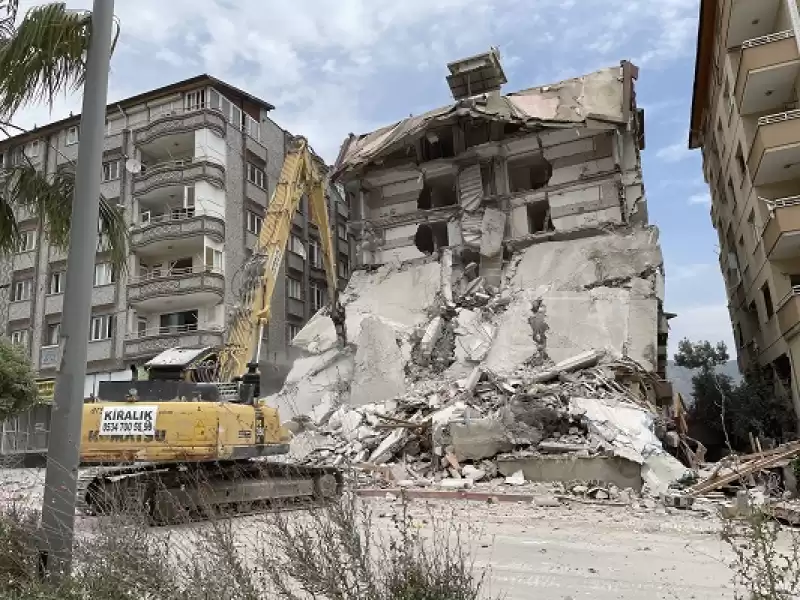
[[[700,148],[740,369],[800,375],[797,0],[703,0],[690,148]],[[800,410],[797,410],[800,415]]]

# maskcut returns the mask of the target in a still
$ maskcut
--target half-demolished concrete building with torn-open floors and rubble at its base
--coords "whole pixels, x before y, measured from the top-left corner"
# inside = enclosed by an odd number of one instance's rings
[[[671,398],[638,69],[503,95],[497,50],[448,67],[453,103],[344,142],[333,177],[356,240],[351,344],[338,348],[317,314],[271,401],[309,428],[302,454],[335,463],[661,456],[631,419],[589,419],[633,401],[652,432]],[[455,438],[473,444],[458,451]]]

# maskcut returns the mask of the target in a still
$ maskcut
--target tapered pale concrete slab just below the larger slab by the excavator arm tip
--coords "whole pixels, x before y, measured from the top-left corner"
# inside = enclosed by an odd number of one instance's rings
[[[381,319],[367,317],[356,340],[350,403],[354,406],[383,402],[406,392],[405,361],[394,329]]]

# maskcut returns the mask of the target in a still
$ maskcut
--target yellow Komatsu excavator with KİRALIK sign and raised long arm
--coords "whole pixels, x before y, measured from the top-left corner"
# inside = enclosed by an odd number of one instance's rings
[[[239,302],[222,348],[171,348],[145,365],[146,378],[103,382],[84,405],[78,505],[86,514],[146,510],[154,523],[247,512],[281,500],[321,501],[342,491],[333,468],[275,460],[291,434],[259,398],[258,362],[292,218],[307,196],[320,234],[329,311],[347,343],[337,293],[324,176],[304,138],[293,140],[244,267]],[[273,457],[272,460],[267,457]]]

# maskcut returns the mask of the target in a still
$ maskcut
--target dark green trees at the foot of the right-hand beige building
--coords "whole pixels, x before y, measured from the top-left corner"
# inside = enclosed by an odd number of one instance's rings
[[[750,434],[781,440],[794,429],[791,399],[779,393],[768,373],[746,373],[739,385],[715,368],[728,360],[725,344],[681,340],[675,363],[699,369],[692,377],[694,404],[689,417],[725,437],[735,449],[750,450]]]

